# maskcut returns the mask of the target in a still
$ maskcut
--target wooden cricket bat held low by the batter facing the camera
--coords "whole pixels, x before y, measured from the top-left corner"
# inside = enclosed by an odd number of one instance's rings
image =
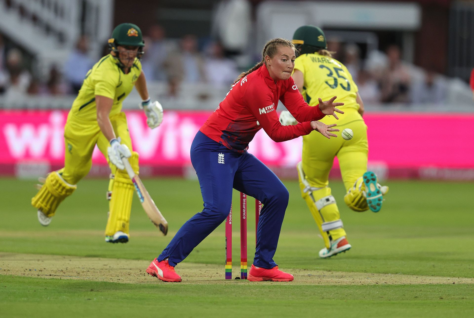
[[[148,194],[148,191],[146,191],[142,180],[140,180],[140,178],[138,178],[138,176],[135,174],[135,171],[133,171],[128,159],[122,157],[122,162],[125,166],[125,170],[127,170],[128,176],[133,182],[138,199],[140,200],[140,203],[142,204],[146,214],[150,218],[151,222],[155,224],[155,226],[160,229],[164,235],[166,235],[168,233],[168,222],[166,222],[160,210],[158,210],[156,207],[155,202],[153,202],[153,199]]]

